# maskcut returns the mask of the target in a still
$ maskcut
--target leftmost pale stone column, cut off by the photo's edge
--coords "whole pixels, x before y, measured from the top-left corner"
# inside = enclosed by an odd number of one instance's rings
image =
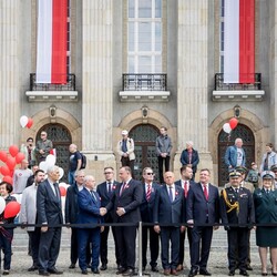
[[[20,99],[19,84],[21,1],[1,0],[0,4],[0,141],[1,148],[18,144]]]

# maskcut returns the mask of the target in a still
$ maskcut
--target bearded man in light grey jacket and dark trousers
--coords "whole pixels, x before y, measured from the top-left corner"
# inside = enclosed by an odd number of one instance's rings
[[[27,187],[22,193],[21,208],[20,208],[20,222],[24,224],[37,224],[37,191],[38,186],[44,179],[44,172],[38,170],[34,173],[34,183]],[[39,255],[39,244],[40,244],[40,227],[29,226],[27,228],[30,245],[32,249],[32,260],[33,265],[28,269],[28,271],[34,271],[39,269],[38,267],[38,255]]]

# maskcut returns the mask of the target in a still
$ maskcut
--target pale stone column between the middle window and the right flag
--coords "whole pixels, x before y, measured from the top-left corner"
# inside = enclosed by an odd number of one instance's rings
[[[208,1],[178,0],[178,154],[186,141],[193,141],[201,156],[201,167],[213,168],[208,153]],[[179,155],[174,168],[179,167]],[[196,177],[197,179],[197,177]]]

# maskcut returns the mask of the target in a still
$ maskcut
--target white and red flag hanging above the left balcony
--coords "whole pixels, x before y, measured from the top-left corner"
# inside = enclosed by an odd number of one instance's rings
[[[66,83],[68,0],[38,0],[37,83]]]

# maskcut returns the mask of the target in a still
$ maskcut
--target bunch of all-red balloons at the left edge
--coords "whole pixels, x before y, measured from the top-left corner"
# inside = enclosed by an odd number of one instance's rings
[[[23,153],[19,152],[19,147],[17,145],[11,145],[9,147],[9,154],[4,151],[0,151],[0,161],[4,163],[4,165],[0,166],[0,173],[3,175],[2,181],[12,185],[14,167],[17,164],[20,164],[25,156]]]

